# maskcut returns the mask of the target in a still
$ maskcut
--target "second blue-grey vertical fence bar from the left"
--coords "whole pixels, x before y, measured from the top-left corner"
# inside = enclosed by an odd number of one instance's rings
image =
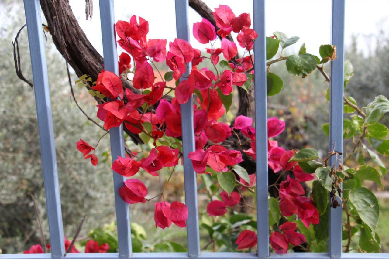
[[[117,64],[117,49],[115,35],[114,0],[99,0],[101,33],[103,39],[104,69],[119,75]],[[112,162],[117,156],[125,157],[123,125],[109,130]],[[128,258],[132,254],[130,210],[128,204],[119,196],[119,188],[124,186],[125,177],[113,172],[117,237],[119,242],[119,257]]]

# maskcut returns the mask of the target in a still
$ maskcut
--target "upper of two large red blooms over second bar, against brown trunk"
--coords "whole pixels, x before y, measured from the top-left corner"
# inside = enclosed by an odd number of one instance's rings
[[[109,98],[123,96],[123,84],[120,78],[113,72],[104,71],[98,74],[96,85],[93,90],[99,91]]]

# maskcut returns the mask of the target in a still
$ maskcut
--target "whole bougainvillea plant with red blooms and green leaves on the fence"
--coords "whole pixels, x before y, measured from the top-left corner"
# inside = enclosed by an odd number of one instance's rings
[[[166,40],[147,39],[149,24],[142,17],[117,21],[117,42],[125,51],[119,56],[119,76],[102,70],[96,82],[83,76],[76,83],[85,86],[99,101],[97,117],[104,122],[105,130],[124,124],[150,147],[143,153],[126,149],[126,157],[115,158],[112,170],[128,177],[119,189],[121,198],[129,204],[154,203],[155,226],[162,229],[172,224],[186,226],[186,205],[171,200],[164,191],[175,167],[182,162],[180,104],[187,103],[195,94],[196,150],[188,157],[198,180],[203,180],[200,187],[209,197],[200,225],[208,231],[210,242],[203,250],[211,243],[214,250],[219,251],[250,250],[257,244],[256,221],[252,217],[256,213],[253,197],[257,179],[255,172],[248,172],[242,161],[255,161],[255,128],[250,117],[239,115],[231,122],[223,115],[231,107],[234,89],[241,87],[251,91],[254,80],[252,49],[258,34],[250,28],[251,19],[247,13],[235,16],[230,7],[220,5],[213,15],[219,30],[216,31],[205,18],[193,25],[194,38],[207,44],[205,54],[182,39],[169,42],[168,49]],[[226,38],[231,32],[235,33],[237,44]],[[286,60],[291,75],[304,78],[318,69],[329,82],[323,66],[336,58],[336,46],[320,46],[320,58],[306,53],[304,44],[297,54],[282,56],[282,50],[298,39],[281,32],[266,37],[267,66]],[[275,58],[277,53],[280,53],[279,57]],[[220,60],[221,55],[225,60]],[[210,67],[200,69],[205,59],[209,59]],[[166,63],[171,71],[162,75],[156,63]],[[352,74],[351,63],[346,61],[344,87]],[[123,88],[123,81],[130,82],[133,88]],[[278,94],[282,85],[278,75],[268,72],[268,96]],[[360,251],[379,250],[379,237],[375,233],[378,201],[369,189],[362,187],[362,181],[371,180],[382,187],[381,177],[386,168],[377,152],[388,156],[389,140],[388,129],[378,121],[388,111],[389,101],[384,96],[378,96],[364,108],[359,108],[354,98],[344,97],[344,112],[350,116],[344,119],[343,135],[353,142],[353,148],[343,153],[343,160],[342,153],[332,147],[324,158],[312,148],[285,150],[274,140],[284,130],[284,121],[277,117],[268,119],[268,165],[270,173],[278,177],[269,186],[278,191],[277,196],[269,197],[269,239],[275,252],[325,251],[328,204],[338,207],[336,197],[342,199],[347,217],[347,223],[343,224],[343,239],[347,240],[345,252],[351,249],[353,236],[359,236]],[[328,129],[329,125],[324,124],[324,133],[328,134]],[[239,143],[236,149],[224,145],[229,138]],[[94,166],[98,163],[96,147],[97,144],[92,147],[84,140],[77,142],[77,149]],[[336,166],[330,165],[330,158],[335,158]],[[345,165],[347,161],[351,162],[350,167]],[[170,170],[170,177],[160,194],[149,197],[138,172],[158,176],[162,168]],[[312,186],[310,190],[304,188],[306,182]],[[87,247],[91,251],[106,250],[104,244],[99,246],[94,241],[88,242]]]

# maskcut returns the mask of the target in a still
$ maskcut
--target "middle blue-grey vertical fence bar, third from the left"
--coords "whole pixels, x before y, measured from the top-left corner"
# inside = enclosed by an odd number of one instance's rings
[[[175,21],[177,38],[189,42],[188,0],[175,0]],[[188,64],[189,70],[191,64]],[[190,71],[186,72],[186,76]],[[185,104],[181,104],[182,152],[184,159],[185,203],[188,208],[186,226],[188,241],[188,256],[196,258],[200,255],[200,235],[198,228],[197,184],[196,172],[192,161],[188,158],[189,152],[195,151],[195,133],[193,129],[193,95]]]

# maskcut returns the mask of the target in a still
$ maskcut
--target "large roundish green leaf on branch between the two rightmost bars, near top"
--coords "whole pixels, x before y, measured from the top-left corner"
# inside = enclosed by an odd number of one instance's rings
[[[286,69],[292,75],[307,77],[316,68],[316,60],[311,54],[291,55],[286,59]]]

